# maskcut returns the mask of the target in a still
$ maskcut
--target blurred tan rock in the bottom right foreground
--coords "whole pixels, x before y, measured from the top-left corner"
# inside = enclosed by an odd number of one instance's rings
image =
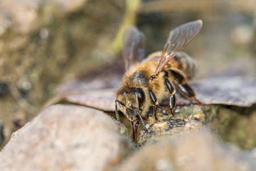
[[[209,128],[143,146],[116,170],[254,170],[256,158],[220,143]]]

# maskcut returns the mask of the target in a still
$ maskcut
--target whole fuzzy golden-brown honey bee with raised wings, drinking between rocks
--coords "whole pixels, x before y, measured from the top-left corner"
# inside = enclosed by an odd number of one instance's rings
[[[115,100],[116,118],[120,111],[129,119],[133,128],[133,141],[137,141],[139,121],[143,121],[149,108],[153,107],[153,116],[158,122],[159,103],[169,95],[169,112],[174,117],[176,108],[175,93],[178,89],[187,99],[201,104],[187,80],[197,69],[197,62],[183,50],[200,32],[202,21],[185,23],[170,31],[164,50],[155,52],[143,59],[144,34],[135,26],[128,27],[123,38],[123,60],[125,74]],[[141,61],[142,60],[142,61]]]

